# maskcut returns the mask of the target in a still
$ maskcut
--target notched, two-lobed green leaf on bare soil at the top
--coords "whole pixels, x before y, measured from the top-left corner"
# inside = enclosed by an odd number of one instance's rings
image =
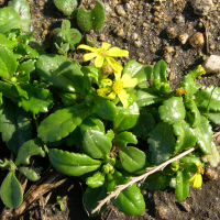
[[[101,31],[105,22],[105,8],[100,1],[96,2],[92,10],[86,11],[81,6],[77,13],[77,23],[81,31],[87,32],[94,30],[95,32]]]

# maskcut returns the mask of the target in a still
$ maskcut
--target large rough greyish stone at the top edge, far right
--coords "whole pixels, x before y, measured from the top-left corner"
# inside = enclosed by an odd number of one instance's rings
[[[191,7],[194,8],[194,13],[198,15],[208,15],[215,8],[212,0],[193,0]]]

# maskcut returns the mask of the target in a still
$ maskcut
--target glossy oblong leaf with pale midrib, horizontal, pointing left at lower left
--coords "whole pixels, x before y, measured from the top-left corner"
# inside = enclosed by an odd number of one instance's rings
[[[75,154],[57,148],[50,150],[48,157],[58,172],[68,176],[81,176],[98,169],[101,165],[100,161],[92,160],[86,154]]]

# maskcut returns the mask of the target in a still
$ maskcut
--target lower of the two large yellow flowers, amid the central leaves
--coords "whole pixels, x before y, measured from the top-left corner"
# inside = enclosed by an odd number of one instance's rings
[[[106,84],[107,88],[97,89],[98,96],[101,96],[106,99],[116,99],[118,95],[120,101],[122,102],[123,107],[129,107],[129,94],[124,88],[134,87],[138,84],[138,78],[131,78],[129,74],[124,74],[121,77],[121,73],[116,75],[116,81],[112,82],[111,79],[102,79],[101,82]]]

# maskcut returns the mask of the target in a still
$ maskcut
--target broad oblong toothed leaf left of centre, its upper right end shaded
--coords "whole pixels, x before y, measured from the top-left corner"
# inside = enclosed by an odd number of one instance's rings
[[[37,129],[38,138],[44,142],[55,142],[73,132],[90,113],[85,102],[56,110]]]

